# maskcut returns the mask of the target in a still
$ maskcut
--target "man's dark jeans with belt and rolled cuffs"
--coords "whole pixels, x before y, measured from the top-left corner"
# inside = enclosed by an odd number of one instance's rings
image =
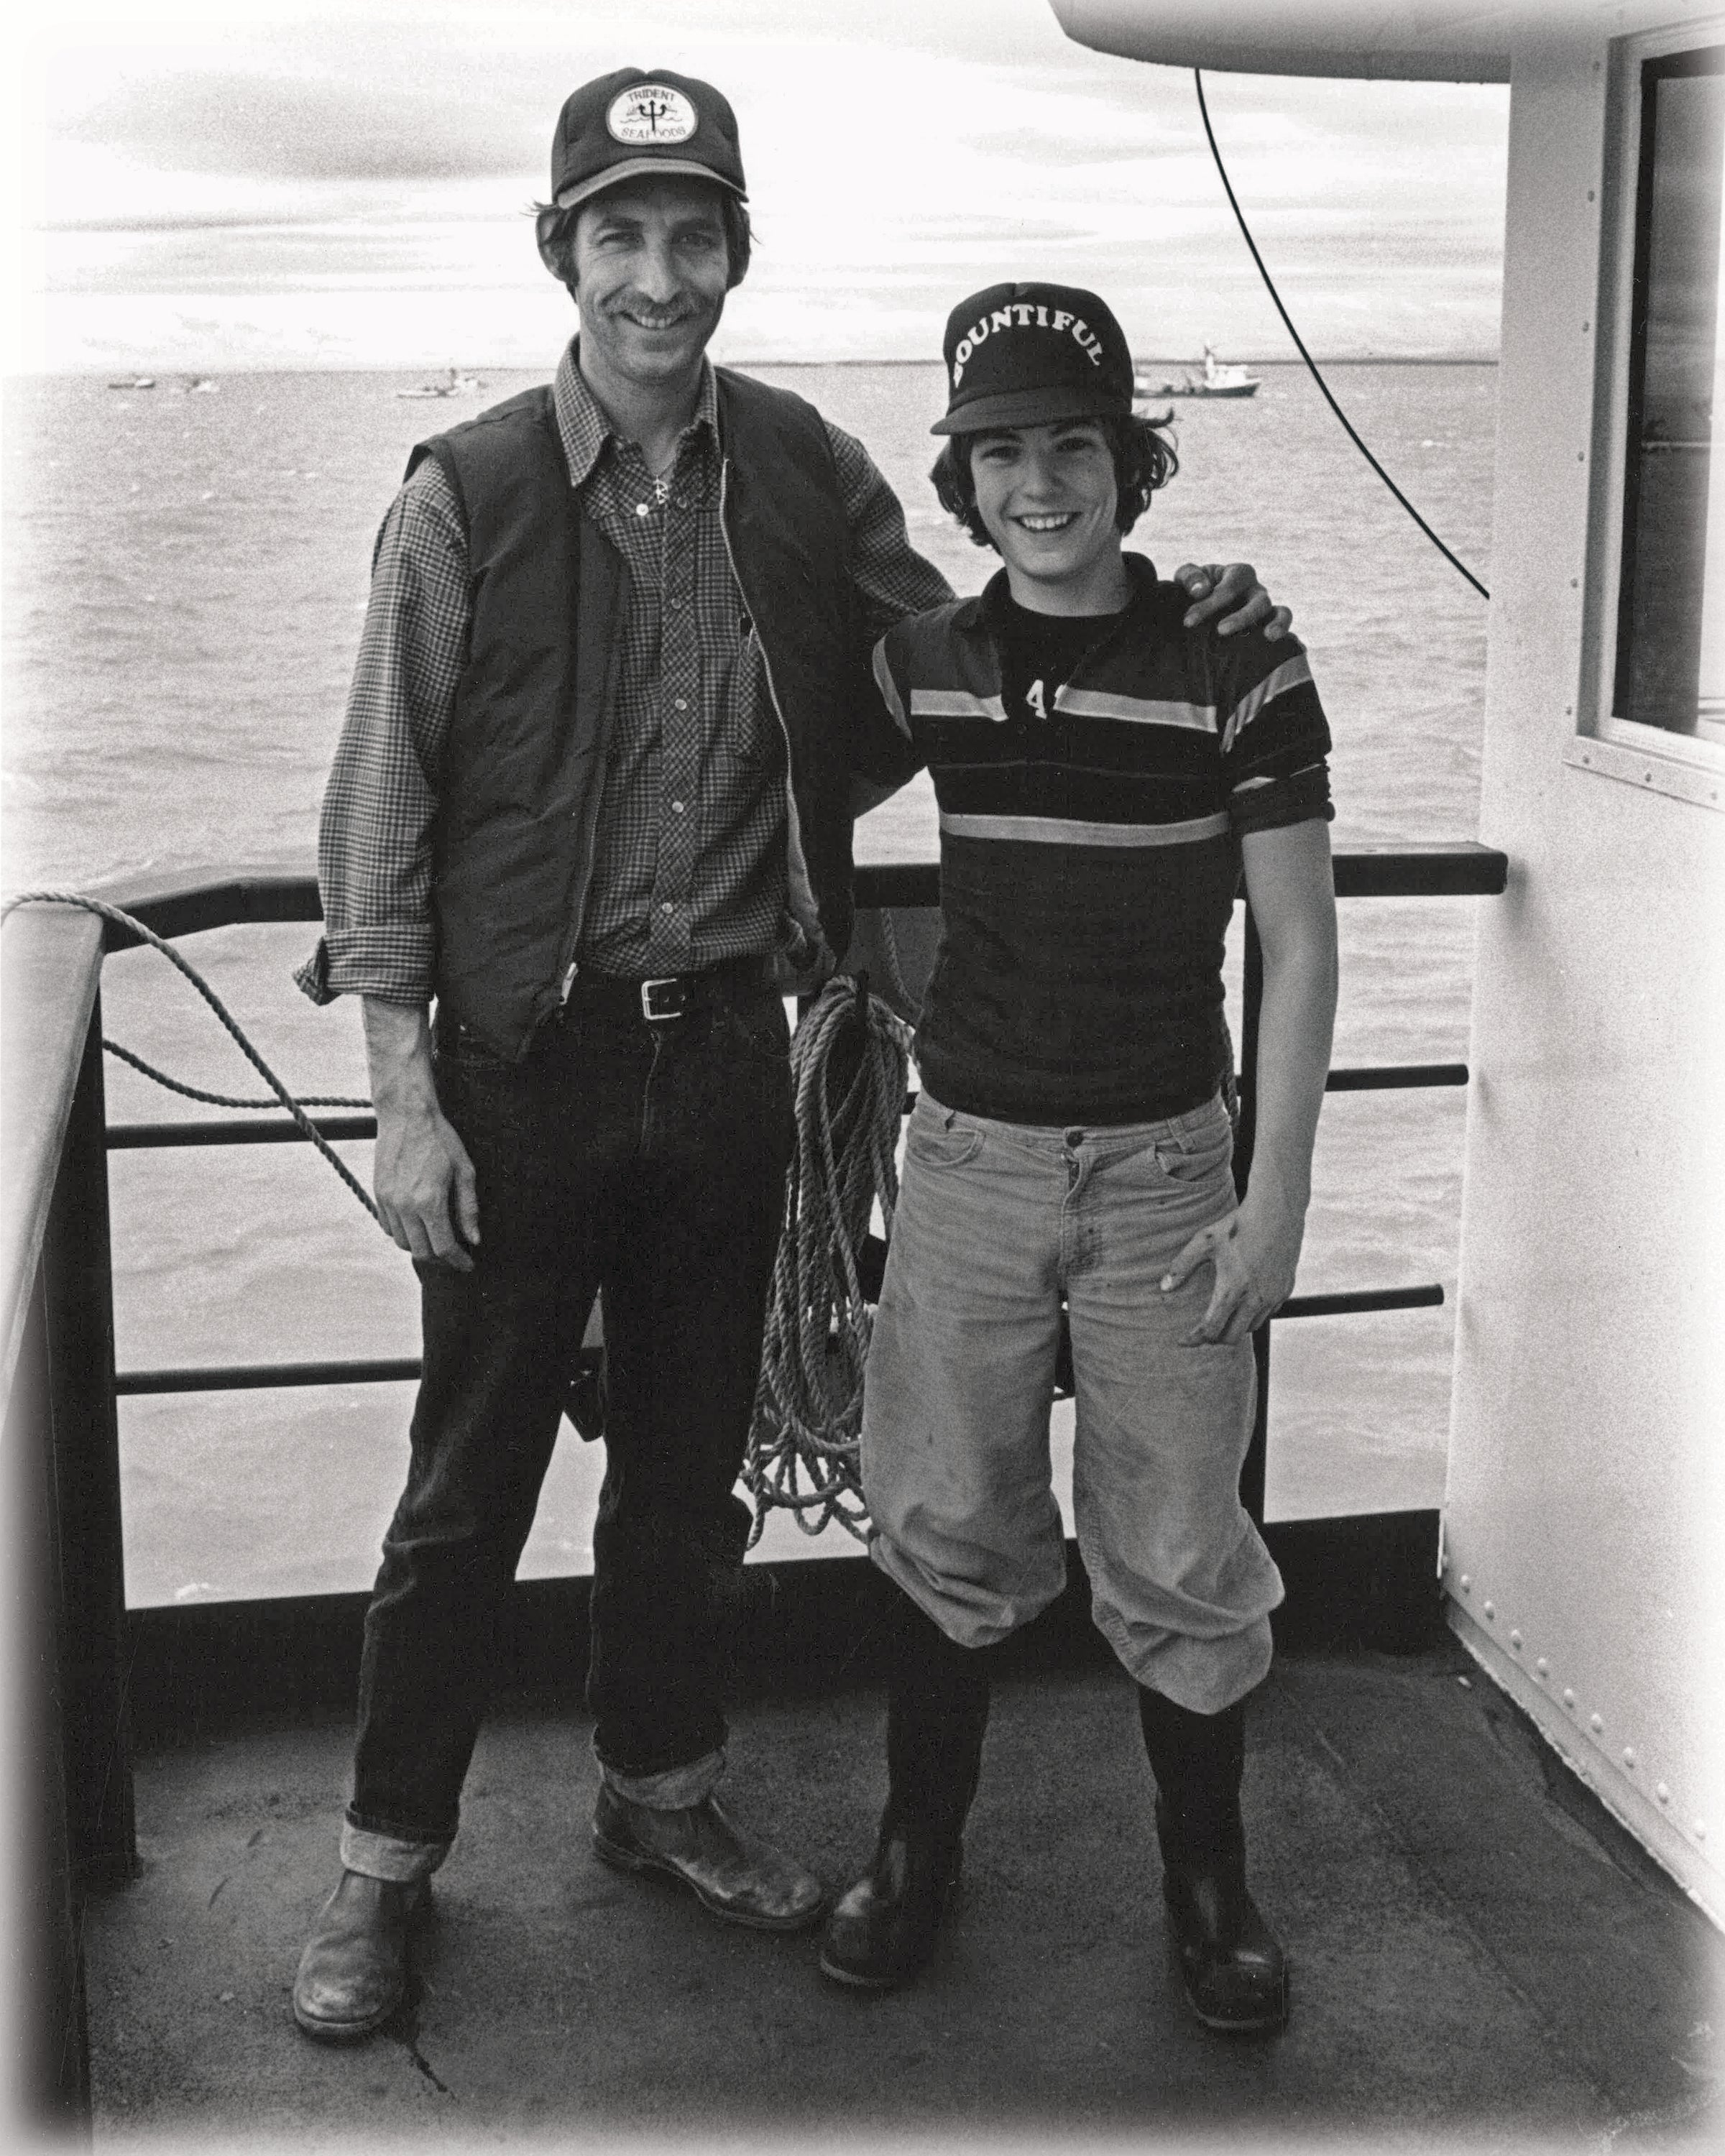
[[[418,1266],[412,1466],[364,1626],[349,1822],[448,1841],[498,1628],[595,1289],[606,1479],[586,1699],[623,1774],[724,1742],[716,1570],[791,1149],[785,1011],[746,987],[649,1026],[578,994],[524,1063],[440,1041],[479,1177],[472,1272]]]

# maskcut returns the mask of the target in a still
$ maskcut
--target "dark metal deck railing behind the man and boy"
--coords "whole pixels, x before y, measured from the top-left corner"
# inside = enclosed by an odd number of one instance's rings
[[[1341,849],[1335,888],[1363,897],[1488,897],[1505,888],[1507,860],[1481,845]],[[313,923],[317,884],[306,873],[233,871],[101,893],[160,936],[242,923]],[[934,908],[932,865],[865,867],[858,906]],[[6,1003],[4,1117],[0,1119],[0,1322],[4,1322],[6,1460],[13,1483],[0,1507],[11,1548],[6,1587],[19,1667],[32,1673],[19,1783],[39,1792],[43,1891],[22,1940],[28,1996],[39,2018],[41,2104],[78,2117],[88,2102],[78,1902],[91,1882],[125,1876],[134,1856],[127,1725],[129,1634],[121,1533],[116,1399],[140,1393],[235,1391],[300,1384],[399,1382],[418,1358],[229,1365],[114,1371],[108,1244],[108,1151],[185,1145],[280,1145],[300,1132],[246,1117],[106,1123],[101,1072],[101,962],[136,944],[125,929],[65,908],[22,908],[0,938]],[[1246,921],[1242,1011],[1242,1117],[1236,1173],[1253,1149],[1251,1072],[1264,955]],[[1335,1093],[1466,1084],[1462,1063],[1335,1069]],[[369,1115],[319,1119],[330,1138],[375,1134]],[[1432,1283],[1294,1296],[1279,1319],[1425,1309]],[[1242,1494],[1261,1518],[1270,1328],[1257,1335],[1259,1425]],[[867,1567],[865,1567],[867,1570]],[[218,1606],[220,1611],[220,1606]]]

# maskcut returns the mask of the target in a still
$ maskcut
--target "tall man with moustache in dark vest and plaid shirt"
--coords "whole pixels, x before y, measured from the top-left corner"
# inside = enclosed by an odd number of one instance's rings
[[[323,2040],[403,1996],[597,1289],[593,1848],[768,1932],[824,1902],[720,1809],[720,1606],[791,1147],[781,996],[845,955],[852,806],[897,761],[871,647],[949,589],[858,442],[707,364],[748,246],[714,88],[576,91],[539,252],[580,338],[423,444],[377,539],[300,981],[364,1005],[425,1360],[293,1988]],[[1184,576],[1205,614],[1287,625],[1251,569]]]

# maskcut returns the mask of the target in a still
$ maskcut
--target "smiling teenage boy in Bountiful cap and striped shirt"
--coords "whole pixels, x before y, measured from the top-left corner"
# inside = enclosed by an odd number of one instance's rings
[[[1179,1968],[1214,2029],[1285,2020],[1244,1880],[1244,1697],[1281,1580],[1240,1505],[1251,1332],[1287,1296],[1335,1013],[1328,727],[1298,642],[1220,640],[1121,537],[1173,474],[1089,291],[947,323],[940,500],[1005,569],[888,630],[875,677],[940,802],[942,938],[869,1354],[862,1490],[903,1591],[888,1798],[822,1968],[929,1955],[988,1720],[988,1647],[1065,1578],[1048,1404],[1065,1300],[1074,1526],[1138,1688]],[[1236,1199],[1223,936],[1264,940]]]

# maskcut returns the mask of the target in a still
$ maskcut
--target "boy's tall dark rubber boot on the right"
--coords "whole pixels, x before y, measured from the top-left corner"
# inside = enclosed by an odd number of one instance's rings
[[[1246,1893],[1244,1701],[1220,1714],[1192,1714],[1141,1684],[1138,1720],[1156,1774],[1162,1895],[1186,1999],[1205,2029],[1281,2029],[1287,1962]]]

